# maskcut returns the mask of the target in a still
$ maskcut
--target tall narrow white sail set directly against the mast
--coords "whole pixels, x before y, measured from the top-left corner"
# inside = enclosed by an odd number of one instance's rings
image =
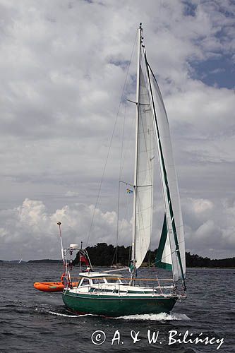
[[[139,268],[150,246],[152,232],[154,127],[150,98],[140,67],[137,181],[135,186],[135,266]]]

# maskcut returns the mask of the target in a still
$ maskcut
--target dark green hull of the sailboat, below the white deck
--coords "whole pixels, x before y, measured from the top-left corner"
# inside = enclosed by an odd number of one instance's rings
[[[174,298],[114,297],[94,294],[74,294],[68,290],[62,294],[64,304],[76,313],[92,313],[102,316],[126,316],[144,313],[169,313],[176,303]]]

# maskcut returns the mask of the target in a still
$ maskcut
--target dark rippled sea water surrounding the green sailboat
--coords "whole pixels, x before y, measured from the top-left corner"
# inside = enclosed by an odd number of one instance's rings
[[[235,352],[233,269],[187,270],[188,299],[167,313],[74,315],[61,293],[61,264],[0,263],[0,352]],[[142,276],[141,276],[142,277]]]

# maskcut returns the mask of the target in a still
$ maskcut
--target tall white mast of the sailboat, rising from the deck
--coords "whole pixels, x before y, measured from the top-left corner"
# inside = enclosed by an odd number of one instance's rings
[[[131,277],[135,277],[135,229],[136,229],[136,193],[138,192],[137,173],[138,173],[138,126],[140,115],[140,51],[142,42],[142,23],[138,28],[138,56],[137,56],[137,76],[136,76],[136,121],[135,121],[135,169],[134,169],[134,195],[133,195],[133,244],[132,256],[133,268],[131,268]]]

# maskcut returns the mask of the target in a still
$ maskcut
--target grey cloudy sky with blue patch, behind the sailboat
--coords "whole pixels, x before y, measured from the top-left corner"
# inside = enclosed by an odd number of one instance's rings
[[[234,15],[230,0],[0,0],[1,259],[59,258],[58,220],[65,245],[116,244],[121,126],[131,145],[135,117],[119,102],[133,97],[135,65],[121,93],[139,22],[169,116],[186,249],[234,256]]]

